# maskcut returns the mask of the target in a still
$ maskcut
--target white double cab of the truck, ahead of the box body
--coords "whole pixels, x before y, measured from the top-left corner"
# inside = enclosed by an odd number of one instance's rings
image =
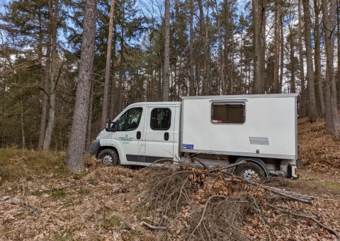
[[[179,157],[181,102],[133,103],[91,145],[103,164],[145,166]]]

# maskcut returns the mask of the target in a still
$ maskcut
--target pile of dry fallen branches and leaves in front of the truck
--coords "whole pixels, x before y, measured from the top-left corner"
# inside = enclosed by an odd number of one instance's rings
[[[303,205],[312,205],[312,196],[271,186],[270,181],[263,184],[234,176],[228,169],[236,165],[212,169],[204,164],[179,164],[142,170],[143,178],[153,180],[142,194],[152,216],[142,224],[154,232],[163,232],[164,240],[179,232],[183,237],[183,230],[186,240],[250,240],[242,229],[256,218],[268,240],[272,240],[268,218],[290,215],[297,221],[313,221],[340,239],[336,230],[301,210]],[[169,230],[177,231],[174,234]]]

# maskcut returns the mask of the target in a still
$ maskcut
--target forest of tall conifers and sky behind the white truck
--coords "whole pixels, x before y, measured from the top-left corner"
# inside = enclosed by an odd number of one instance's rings
[[[189,95],[300,93],[300,116],[340,135],[336,0],[13,0],[0,16],[1,147],[67,149],[86,4],[87,149],[128,104]]]

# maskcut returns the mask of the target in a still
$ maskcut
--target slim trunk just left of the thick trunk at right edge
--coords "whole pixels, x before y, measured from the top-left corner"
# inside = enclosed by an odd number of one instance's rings
[[[319,116],[324,116],[324,93],[322,91],[322,77],[321,77],[321,54],[320,54],[320,21],[319,13],[320,6],[318,1],[314,0],[314,65],[315,65],[315,91],[317,92],[317,103],[319,107]]]

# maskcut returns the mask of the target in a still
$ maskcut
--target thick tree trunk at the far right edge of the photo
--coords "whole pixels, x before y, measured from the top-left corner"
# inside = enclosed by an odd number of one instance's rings
[[[325,98],[325,128],[329,133],[339,138],[340,121],[336,101],[336,82],[334,72],[334,29],[336,24],[336,0],[324,0],[323,23],[326,45],[326,98]]]

